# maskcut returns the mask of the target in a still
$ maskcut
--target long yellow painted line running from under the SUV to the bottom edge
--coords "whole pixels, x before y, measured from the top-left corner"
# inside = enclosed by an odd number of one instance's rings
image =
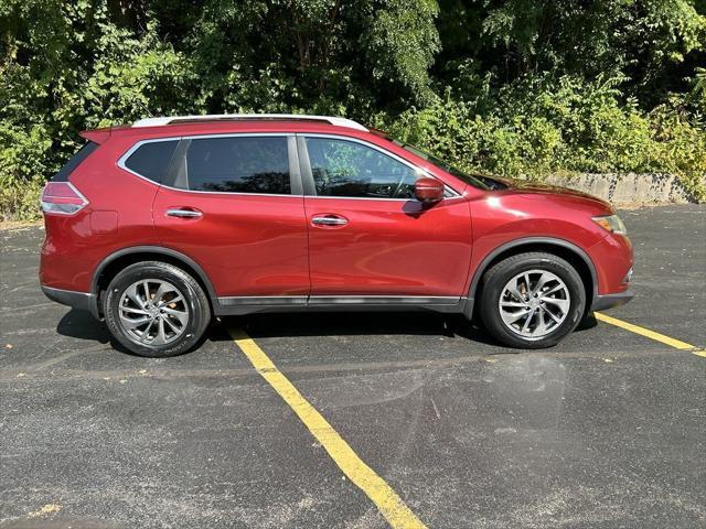
[[[317,409],[302,397],[263,349],[242,330],[229,330],[231,336],[253,367],[297,413],[311,434],[321,443],[343,474],[377,506],[393,528],[426,528],[417,516],[375,471],[361,460]]]

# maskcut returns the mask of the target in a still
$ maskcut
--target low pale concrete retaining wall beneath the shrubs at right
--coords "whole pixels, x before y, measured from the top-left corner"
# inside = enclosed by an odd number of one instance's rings
[[[552,175],[545,181],[590,193],[613,204],[696,202],[672,174],[575,174]]]

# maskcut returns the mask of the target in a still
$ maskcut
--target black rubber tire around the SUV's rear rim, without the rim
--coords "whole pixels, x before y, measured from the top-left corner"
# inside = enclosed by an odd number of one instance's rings
[[[188,322],[183,325],[181,334],[178,337],[173,336],[171,342],[162,345],[138,343],[121,323],[120,300],[124,293],[130,285],[145,280],[165,281],[174,287],[183,298],[183,305],[180,306],[188,310],[185,311],[188,312]],[[189,352],[199,343],[211,321],[208,299],[199,282],[182,269],[161,261],[138,262],[116,274],[104,296],[103,312],[108,330],[116,341],[136,355],[150,358],[164,358]]]

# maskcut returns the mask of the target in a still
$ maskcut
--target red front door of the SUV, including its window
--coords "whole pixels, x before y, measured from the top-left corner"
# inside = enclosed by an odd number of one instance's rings
[[[429,176],[372,143],[298,137],[309,227],[310,303],[428,303],[462,292],[471,257],[468,202],[414,194]]]

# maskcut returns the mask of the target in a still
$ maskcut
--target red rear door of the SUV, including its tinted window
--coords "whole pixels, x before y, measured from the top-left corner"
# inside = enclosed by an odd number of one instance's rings
[[[293,136],[181,138],[153,216],[161,244],[204,269],[222,305],[306,303],[307,223]]]

